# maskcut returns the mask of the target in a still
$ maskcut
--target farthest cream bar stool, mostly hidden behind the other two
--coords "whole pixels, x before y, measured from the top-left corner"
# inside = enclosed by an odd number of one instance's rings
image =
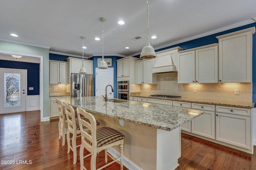
[[[66,129],[68,128],[68,123],[66,120],[66,115],[64,111],[63,102],[56,98],[58,111],[59,111],[59,122],[58,122],[58,129],[59,129],[59,139],[62,138],[62,146],[65,145],[66,142]]]

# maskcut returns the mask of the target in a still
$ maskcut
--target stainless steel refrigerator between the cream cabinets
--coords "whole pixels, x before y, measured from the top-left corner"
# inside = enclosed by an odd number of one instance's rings
[[[94,96],[94,76],[92,74],[71,74],[71,97]]]

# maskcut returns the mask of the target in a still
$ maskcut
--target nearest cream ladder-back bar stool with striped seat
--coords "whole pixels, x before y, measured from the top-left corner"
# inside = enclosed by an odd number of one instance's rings
[[[119,145],[120,147],[120,158],[109,162],[97,170],[103,169],[118,160],[120,160],[120,169],[123,169],[124,135],[116,129],[112,129],[110,127],[100,127],[99,129],[96,129],[96,119],[92,114],[79,107],[76,109],[76,112],[78,115],[82,139],[79,151],[81,170],[86,170],[84,167],[84,158],[90,155],[92,155],[90,163],[91,170],[96,170],[97,153],[102,150],[105,150],[105,162],[107,163],[107,149],[115,145]],[[89,119],[90,122],[84,121],[81,119],[81,117]],[[89,129],[90,131],[86,131],[86,129]],[[88,150],[90,154],[84,156],[84,148]]]

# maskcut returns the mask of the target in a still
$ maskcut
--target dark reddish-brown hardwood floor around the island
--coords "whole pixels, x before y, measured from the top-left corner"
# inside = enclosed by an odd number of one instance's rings
[[[181,141],[182,156],[176,170],[256,169],[255,153],[248,154],[183,133]],[[79,142],[80,139],[77,140]],[[1,162],[0,170],[79,170],[79,156],[74,165],[72,151],[67,154],[67,145],[62,147],[61,143],[58,140],[58,120],[40,122],[39,111],[0,115],[0,160],[5,163]],[[86,158],[88,169],[89,164],[90,158]],[[102,164],[104,152],[97,156],[97,167]],[[119,169],[120,166],[115,163],[104,170]]]

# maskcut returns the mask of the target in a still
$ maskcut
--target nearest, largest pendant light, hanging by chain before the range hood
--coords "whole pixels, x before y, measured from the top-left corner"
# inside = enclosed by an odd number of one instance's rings
[[[155,52],[154,48],[149,43],[149,4],[148,4],[148,0],[147,0],[147,5],[148,5],[148,41],[146,43],[146,46],[143,47],[143,49],[141,51],[141,54],[140,54],[141,59],[153,59],[156,57],[156,52]]]

